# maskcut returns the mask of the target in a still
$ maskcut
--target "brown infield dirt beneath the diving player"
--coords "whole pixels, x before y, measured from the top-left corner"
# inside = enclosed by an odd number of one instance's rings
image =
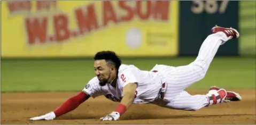
[[[188,90],[190,94],[207,91]],[[77,109],[52,121],[29,121],[29,118],[55,110],[77,93],[2,93],[1,124],[255,124],[255,90],[234,90],[241,102],[229,102],[199,111],[166,109],[153,104],[134,104],[119,121],[100,121],[119,103],[105,97],[90,98]]]

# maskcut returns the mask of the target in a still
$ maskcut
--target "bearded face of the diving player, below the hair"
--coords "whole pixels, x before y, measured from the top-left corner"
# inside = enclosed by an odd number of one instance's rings
[[[110,82],[113,69],[106,63],[105,60],[96,60],[94,62],[94,71],[98,77],[100,86],[105,86]]]

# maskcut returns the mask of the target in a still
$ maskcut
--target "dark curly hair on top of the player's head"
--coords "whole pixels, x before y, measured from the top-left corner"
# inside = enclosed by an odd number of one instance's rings
[[[118,55],[113,51],[100,51],[95,54],[94,60],[105,60],[106,62],[112,62],[117,71],[122,63]]]

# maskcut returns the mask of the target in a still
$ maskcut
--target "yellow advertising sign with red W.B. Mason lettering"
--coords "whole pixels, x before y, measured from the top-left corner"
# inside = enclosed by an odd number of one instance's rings
[[[3,1],[2,57],[175,56],[178,1]]]

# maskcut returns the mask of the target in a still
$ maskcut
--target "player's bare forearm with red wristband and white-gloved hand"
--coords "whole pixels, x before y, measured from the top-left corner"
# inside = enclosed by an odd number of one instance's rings
[[[130,84],[127,84],[125,87],[123,87],[123,98],[121,100],[121,103],[117,107],[117,109],[111,114],[108,114],[107,116],[100,118],[100,120],[103,120],[103,121],[118,120],[120,116],[128,110],[131,104],[133,104],[136,88],[137,88],[137,84],[135,83],[130,83]]]

